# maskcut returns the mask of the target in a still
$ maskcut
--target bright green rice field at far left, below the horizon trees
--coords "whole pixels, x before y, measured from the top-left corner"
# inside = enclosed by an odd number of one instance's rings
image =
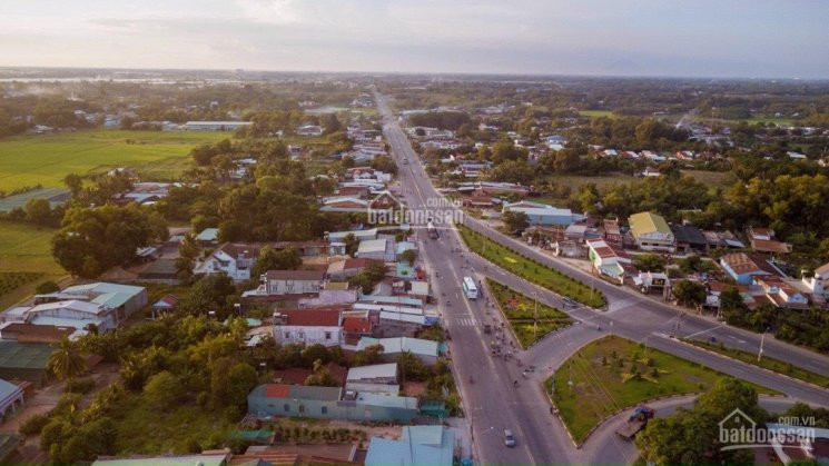
[[[0,140],[0,186],[63,187],[67,173],[88,175],[132,167],[147,177],[170,179],[188,167],[190,149],[230,138],[209,131],[86,130]]]

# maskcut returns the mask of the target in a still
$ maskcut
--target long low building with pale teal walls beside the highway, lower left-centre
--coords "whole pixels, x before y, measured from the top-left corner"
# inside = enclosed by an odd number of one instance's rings
[[[413,397],[279,384],[254,388],[247,405],[248,413],[258,418],[284,416],[405,424],[420,413],[417,398]]]

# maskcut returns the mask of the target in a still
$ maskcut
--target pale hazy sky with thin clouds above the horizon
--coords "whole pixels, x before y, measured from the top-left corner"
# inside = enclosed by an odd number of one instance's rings
[[[1,0],[0,66],[829,79],[827,0]]]

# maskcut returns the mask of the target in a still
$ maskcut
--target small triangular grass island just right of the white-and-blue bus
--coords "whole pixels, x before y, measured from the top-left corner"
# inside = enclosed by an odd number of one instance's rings
[[[573,323],[561,310],[541,303],[537,303],[536,307],[535,300],[515,293],[493,279],[487,278],[486,286],[495,297],[501,313],[504,315],[506,321],[510,323],[519,339],[519,344],[524,349],[544,338],[549,333]]]

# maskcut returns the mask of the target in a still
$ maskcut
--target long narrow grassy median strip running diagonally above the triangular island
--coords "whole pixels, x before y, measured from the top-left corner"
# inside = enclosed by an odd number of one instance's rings
[[[572,298],[590,307],[604,306],[604,296],[581,281],[553,270],[533,259],[502,246],[463,225],[457,226],[466,246],[484,259],[517,275],[525,280],[544,287],[561,296]]]

